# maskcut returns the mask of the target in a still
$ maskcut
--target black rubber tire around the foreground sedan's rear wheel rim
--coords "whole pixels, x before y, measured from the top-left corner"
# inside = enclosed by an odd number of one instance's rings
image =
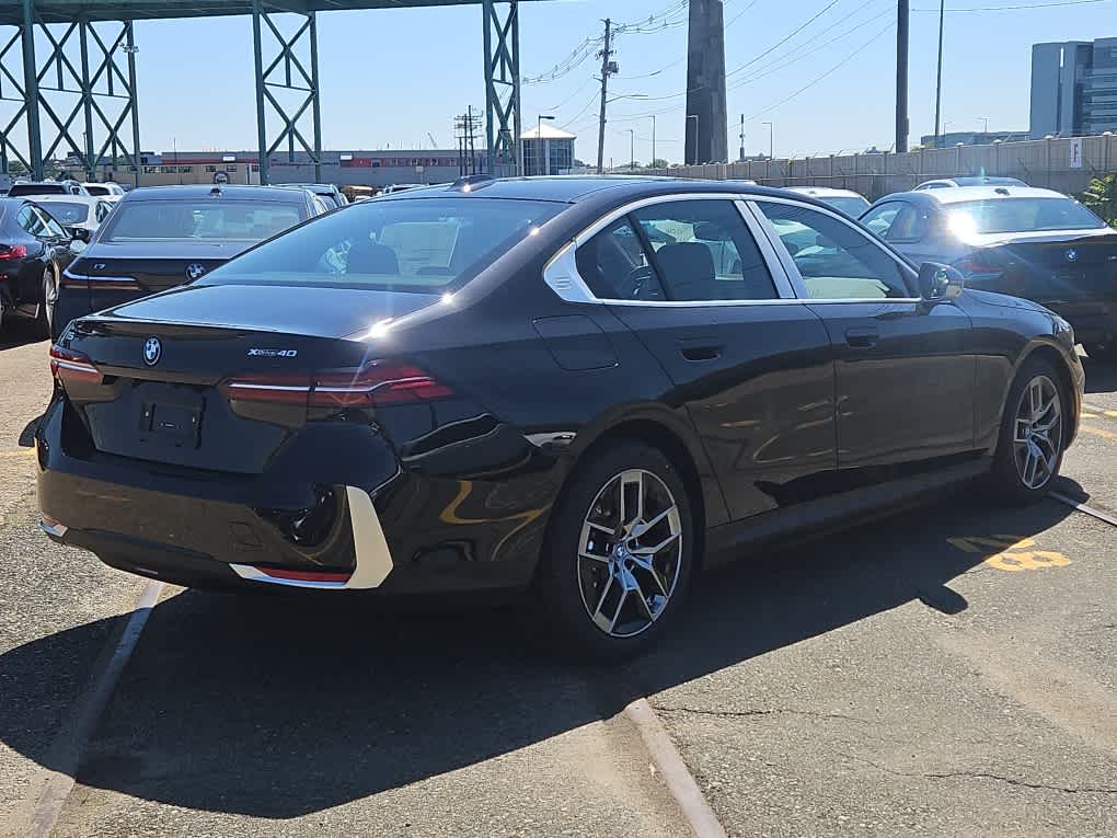
[[[645,492],[643,480],[647,480],[649,499],[657,503],[662,499],[663,503],[658,504],[655,511],[650,511],[649,517],[655,518],[658,513],[665,513],[668,510],[666,505],[668,501],[674,502],[674,507],[677,510],[677,520],[668,515],[668,518],[655,524],[646,533],[648,542],[666,543],[667,534],[676,525],[678,526],[681,542],[678,549],[665,547],[650,560],[651,566],[658,569],[658,577],[649,575],[648,568],[637,563],[634,553],[614,556],[611,561],[617,562],[615,565],[580,558],[580,547],[583,543],[588,550],[592,545],[594,554],[599,550],[604,550],[613,555],[610,547],[599,546],[596,536],[591,542],[583,542],[582,533],[583,527],[594,526],[589,523],[589,517],[591,514],[602,513],[607,505],[607,494],[611,498],[613,491],[626,492],[626,485],[631,488],[633,484],[626,484],[621,477],[624,473],[629,476],[633,473],[650,475],[650,477],[641,476],[641,488],[638,492],[641,494]],[[619,489],[615,488],[618,479],[621,480]],[[661,489],[666,489],[668,496],[662,495]],[[646,501],[646,506],[652,505]],[[600,520],[609,521],[614,512],[610,512],[609,515],[602,514]],[[617,514],[615,518],[620,521],[620,515]],[[617,660],[641,653],[669,630],[686,597],[694,566],[696,542],[694,522],[695,516],[686,485],[662,451],[634,440],[621,440],[590,451],[571,475],[552,513],[544,552],[535,575],[533,601],[536,610],[531,619],[537,621],[538,628],[561,654],[577,660],[586,658]],[[621,527],[623,522],[619,524],[618,530]],[[600,544],[608,545],[612,544],[610,540],[617,536],[614,534],[600,537]],[[628,541],[619,539],[618,544],[620,543],[633,550],[650,549],[639,536]],[[648,561],[647,556],[642,560]],[[637,566],[633,568],[633,563]],[[628,570],[627,577],[623,577],[624,569]],[[613,577],[614,571],[620,575]],[[626,579],[638,580],[640,588],[629,590],[626,587],[629,583],[624,581]],[[655,593],[652,587],[657,579],[660,583],[660,593]],[[667,579],[672,580],[669,590],[665,582]],[[599,588],[593,588],[598,584]],[[605,589],[610,584],[615,584],[612,594]],[[637,590],[642,592],[646,588],[653,592],[643,598],[645,606],[640,608],[638,603],[641,602],[641,594],[637,593]],[[659,598],[665,591],[668,596],[665,602],[660,602]],[[598,598],[599,592],[600,599],[596,602],[599,615],[607,610],[607,597],[621,597],[615,609],[617,619],[613,620],[615,634],[609,634],[594,622],[591,615],[589,601]],[[612,610],[611,606],[612,599],[609,600],[608,610]],[[655,616],[652,616],[653,609]],[[622,615],[626,620],[623,623]],[[632,619],[628,619],[628,615],[632,615]],[[608,617],[603,619],[608,621]],[[620,636],[646,619],[648,625],[645,628],[629,636]]]

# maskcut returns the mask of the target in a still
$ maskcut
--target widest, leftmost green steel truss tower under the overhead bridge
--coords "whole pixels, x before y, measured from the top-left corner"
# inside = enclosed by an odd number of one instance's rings
[[[42,178],[47,162],[76,155],[86,179],[92,180],[98,163],[118,169],[123,159],[139,183],[140,117],[131,21],[46,23],[36,15],[32,0],[22,0],[22,7],[23,25],[11,38],[0,38],[0,101],[20,105],[2,125],[0,170],[7,172],[8,161],[15,159],[35,178]],[[46,41],[45,53],[37,54],[36,36],[40,44]],[[15,70],[19,64],[21,79]],[[21,124],[27,128],[26,154],[12,142],[22,133]]]

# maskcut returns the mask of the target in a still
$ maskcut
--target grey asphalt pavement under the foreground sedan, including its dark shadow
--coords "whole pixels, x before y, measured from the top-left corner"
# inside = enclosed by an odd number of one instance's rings
[[[66,770],[144,585],[37,531],[17,438],[45,355],[0,349],[0,835]],[[1114,511],[1117,373],[1088,377],[1060,489]],[[647,696],[733,836],[1113,836],[1115,545],[971,488],[742,556],[610,668],[546,656],[510,610],[168,587],[51,834],[685,836],[623,714]]]

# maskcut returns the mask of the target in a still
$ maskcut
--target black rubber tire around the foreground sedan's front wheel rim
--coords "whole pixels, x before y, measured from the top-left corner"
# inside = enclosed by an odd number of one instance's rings
[[[1040,485],[1034,485],[1034,483],[1033,485],[1029,485],[1024,475],[1021,474],[1021,457],[1018,455],[1019,448],[1015,439],[1016,422],[1019,411],[1023,407],[1022,400],[1025,398],[1025,392],[1038,380],[1050,382],[1058,393],[1061,421],[1058,425],[1058,451],[1053,465],[1043,467],[1044,470],[1049,472],[1047,478]],[[1004,503],[1014,506],[1024,506],[1040,501],[1050,492],[1051,484],[1054,483],[1056,477],[1059,475],[1059,468],[1062,465],[1062,456],[1066,450],[1067,419],[1069,417],[1068,408],[1070,404],[1068,397],[1069,393],[1067,393],[1067,388],[1059,372],[1049,361],[1042,358],[1031,358],[1020,368],[1016,378],[1012,382],[1012,387],[1009,388],[1009,396],[1005,400],[1004,412],[1001,417],[1001,434],[997,439],[993,473],[991,475],[993,491]],[[1042,446],[1041,450],[1050,456],[1050,449],[1046,446]]]

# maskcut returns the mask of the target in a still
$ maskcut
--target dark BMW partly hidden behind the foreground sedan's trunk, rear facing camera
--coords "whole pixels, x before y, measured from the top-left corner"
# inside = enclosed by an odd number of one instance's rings
[[[314,197],[276,187],[134,189],[63,276],[57,322],[194,282],[252,245],[318,215]]]

